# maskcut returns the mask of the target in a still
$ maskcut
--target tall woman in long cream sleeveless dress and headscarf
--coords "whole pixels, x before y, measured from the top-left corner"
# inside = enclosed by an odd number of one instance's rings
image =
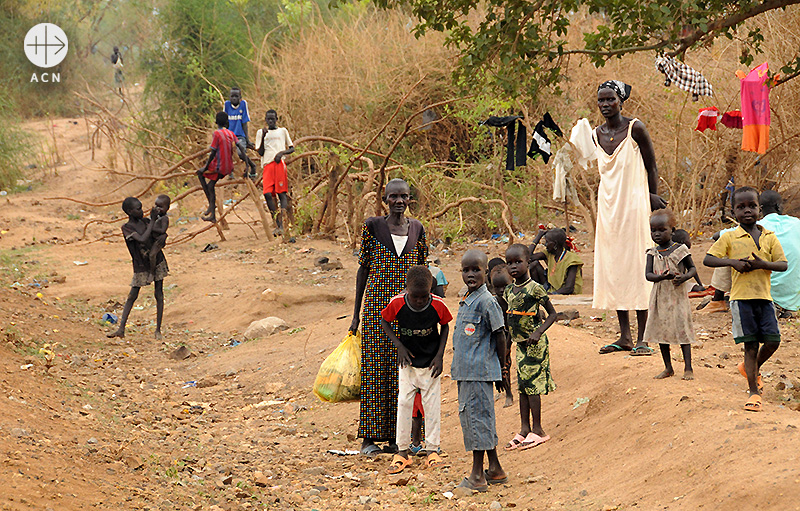
[[[620,337],[600,353],[631,351],[652,355],[642,340],[652,284],[645,279],[645,251],[650,239],[650,211],[666,206],[658,196],[658,168],[653,142],[638,119],[622,116],[631,87],[618,80],[597,88],[597,107],[606,122],[594,132],[600,188],[597,192],[597,230],[594,242],[592,307],[613,309]],[[630,313],[636,311],[639,331],[631,336]]]

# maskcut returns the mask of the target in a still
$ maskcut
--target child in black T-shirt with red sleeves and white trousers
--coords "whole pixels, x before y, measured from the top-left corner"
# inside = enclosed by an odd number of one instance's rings
[[[433,277],[425,266],[412,266],[406,276],[406,290],[392,298],[381,311],[381,327],[397,348],[397,445],[390,474],[399,474],[413,462],[409,456],[411,413],[417,391],[425,409],[425,450],[428,468],[444,463],[439,456],[441,432],[441,378],[444,347],[453,316],[438,296],[431,294]],[[397,321],[398,335],[392,330]],[[437,326],[441,325],[441,329]]]

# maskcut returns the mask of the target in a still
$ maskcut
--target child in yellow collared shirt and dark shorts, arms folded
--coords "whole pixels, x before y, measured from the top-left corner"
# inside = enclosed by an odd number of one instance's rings
[[[749,186],[738,188],[731,195],[731,205],[739,227],[719,237],[708,250],[703,264],[732,268],[733,340],[744,344],[744,364],[739,364],[739,372],[745,375],[750,387],[750,398],[744,409],[760,412],[761,366],[781,342],[770,294],[770,274],[786,271],[787,264],[775,233],[756,224],[758,192]]]

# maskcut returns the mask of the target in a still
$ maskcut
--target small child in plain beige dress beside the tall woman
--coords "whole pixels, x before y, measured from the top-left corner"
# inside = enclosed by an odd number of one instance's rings
[[[675,215],[670,209],[657,209],[650,215],[650,236],[655,247],[647,249],[645,278],[653,282],[644,341],[658,343],[664,370],[656,379],[675,374],[670,357],[670,344],[677,344],[683,353],[683,379],[694,380],[692,371],[692,311],[686,286],[683,284],[697,274],[689,248],[672,241]]]

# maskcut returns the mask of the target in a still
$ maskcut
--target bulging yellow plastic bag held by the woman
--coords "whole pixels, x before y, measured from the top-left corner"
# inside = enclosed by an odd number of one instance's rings
[[[361,333],[348,332],[322,362],[313,390],[328,403],[355,401],[361,396]]]

